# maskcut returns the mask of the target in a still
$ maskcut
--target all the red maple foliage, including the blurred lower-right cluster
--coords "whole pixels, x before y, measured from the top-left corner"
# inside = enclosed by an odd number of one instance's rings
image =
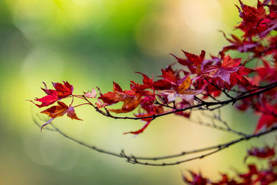
[[[80,105],[91,105],[110,118],[145,122],[139,130],[124,134],[141,134],[159,116],[177,114],[189,118],[194,109],[204,111],[234,105],[242,112],[252,109],[260,117],[252,136],[272,129],[277,123],[277,1],[258,1],[256,7],[240,1],[237,8],[242,20],[235,28],[242,31],[242,36],[227,37],[222,32],[230,44],[217,55],[208,56],[206,51],[197,54],[183,51],[183,56],[172,54],[176,62],[161,69],[160,76],[150,78],[136,72],[142,76],[142,83],[131,80],[129,89],[125,90],[113,82],[112,90],[106,93],[97,87],[98,91],[92,89],[76,95],[69,82],[53,83],[54,89],[48,89],[44,84],[42,90],[46,96],[35,99],[39,104],[32,102],[39,108],[56,102],[57,105],[41,112],[51,117],[41,128],[64,114],[81,120],[74,110]],[[234,58],[228,54],[229,51],[247,53],[248,57]],[[71,98],[71,104],[63,103],[64,98]],[[73,105],[74,98],[80,98],[84,103]],[[121,103],[120,108],[114,108],[113,105],[118,103]],[[115,116],[127,112],[133,112],[134,116]],[[239,179],[222,175],[220,182],[211,182],[201,174],[190,172],[192,178],[184,176],[184,181],[189,184],[269,184],[277,180],[274,155],[275,148],[268,146],[249,150],[247,157],[269,159],[269,166],[267,170],[259,170],[251,164],[248,173],[238,173]]]

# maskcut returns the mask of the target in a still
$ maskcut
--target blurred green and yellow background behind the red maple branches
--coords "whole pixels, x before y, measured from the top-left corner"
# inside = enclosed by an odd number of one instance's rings
[[[96,85],[124,89],[141,82],[141,71],[158,76],[175,62],[169,53],[217,55],[227,42],[217,30],[234,33],[240,21],[237,1],[188,0],[1,0],[0,1],[0,184],[183,184],[181,173],[201,171],[217,179],[233,167],[244,170],[251,143],[240,143],[202,160],[179,166],[128,164],[102,155],[59,134],[39,131],[28,99],[44,96],[42,81],[68,80],[75,94]],[[247,1],[255,4],[256,1]],[[139,121],[116,121],[90,107],[75,109],[84,121],[57,118],[55,125],[71,136],[133,155],[166,155],[211,146],[235,138],[179,116],[155,120],[133,138]],[[253,132],[257,119],[232,107],[222,116],[239,130]],[[258,143],[270,143],[264,137]]]

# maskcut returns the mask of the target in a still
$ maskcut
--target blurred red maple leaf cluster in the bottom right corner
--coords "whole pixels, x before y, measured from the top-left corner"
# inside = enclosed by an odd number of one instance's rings
[[[277,181],[277,159],[275,157],[275,150],[275,146],[264,146],[261,148],[253,147],[247,151],[247,157],[254,157],[259,161],[267,160],[266,168],[258,168],[258,166],[253,163],[247,164],[247,173],[237,172],[236,176],[233,178],[229,177],[227,174],[222,174],[221,179],[215,182],[213,182],[211,179],[203,177],[201,173],[197,174],[193,171],[189,171],[190,175],[183,175],[183,180],[184,182],[192,185],[271,184],[272,182]]]

